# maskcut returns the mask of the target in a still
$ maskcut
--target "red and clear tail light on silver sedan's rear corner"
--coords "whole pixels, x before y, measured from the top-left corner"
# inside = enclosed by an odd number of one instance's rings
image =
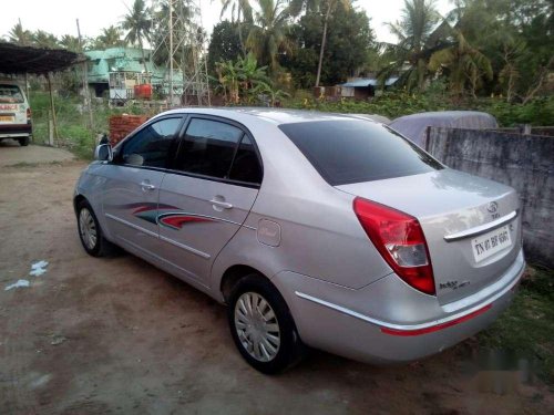
[[[434,295],[433,268],[418,219],[359,197],[353,200],[353,210],[392,270],[414,289]]]

